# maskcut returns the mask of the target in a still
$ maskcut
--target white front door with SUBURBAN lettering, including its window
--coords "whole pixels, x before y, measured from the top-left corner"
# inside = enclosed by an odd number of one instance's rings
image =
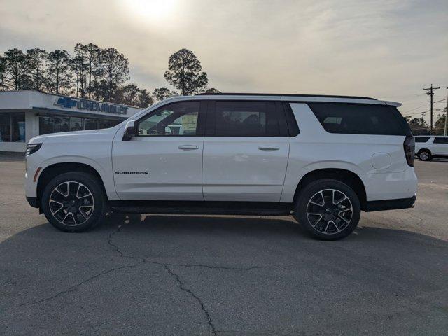
[[[117,134],[112,161],[121,200],[204,200],[204,108],[199,100],[167,104],[137,120],[130,141]]]

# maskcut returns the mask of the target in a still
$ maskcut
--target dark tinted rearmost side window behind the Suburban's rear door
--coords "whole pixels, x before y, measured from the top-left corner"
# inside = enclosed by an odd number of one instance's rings
[[[395,106],[308,103],[330,133],[410,135],[409,126]]]

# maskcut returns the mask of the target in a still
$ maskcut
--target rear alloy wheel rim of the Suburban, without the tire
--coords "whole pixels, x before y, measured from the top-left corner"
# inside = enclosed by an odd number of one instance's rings
[[[353,217],[353,206],[347,195],[337,189],[315,193],[307,204],[307,219],[314,230],[335,235],[347,228]]]

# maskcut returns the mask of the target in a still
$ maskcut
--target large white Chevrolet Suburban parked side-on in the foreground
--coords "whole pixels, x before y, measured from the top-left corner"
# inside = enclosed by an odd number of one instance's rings
[[[416,199],[414,138],[394,102],[365,97],[174,97],[106,130],[34,137],[26,195],[80,232],[106,212],[289,215],[320,239],[360,211]]]

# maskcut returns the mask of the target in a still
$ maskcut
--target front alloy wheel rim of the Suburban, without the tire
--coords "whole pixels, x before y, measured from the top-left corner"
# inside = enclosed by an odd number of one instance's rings
[[[56,186],[51,194],[49,207],[52,216],[64,225],[85,223],[94,210],[94,199],[83,183],[66,181]]]

